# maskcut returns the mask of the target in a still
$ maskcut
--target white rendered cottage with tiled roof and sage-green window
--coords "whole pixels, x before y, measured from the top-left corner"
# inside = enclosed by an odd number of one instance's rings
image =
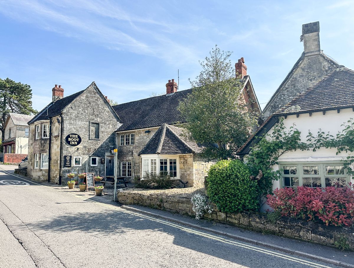
[[[336,136],[342,132],[343,124],[354,118],[354,71],[338,66],[313,87],[300,94],[289,104],[273,113],[253,135],[238,155],[247,159],[252,146],[256,146],[262,133],[272,133],[279,118],[284,118],[287,129],[295,124],[301,132],[301,141],[307,142],[310,131],[316,135],[319,129]],[[347,174],[343,161],[349,154],[336,154],[336,148],[324,148],[313,152],[290,151],[279,158],[273,170],[281,170],[281,180],[273,183],[273,189],[280,187],[326,187],[354,183]]]

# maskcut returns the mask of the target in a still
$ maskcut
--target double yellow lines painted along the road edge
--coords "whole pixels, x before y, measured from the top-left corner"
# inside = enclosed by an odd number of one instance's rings
[[[137,217],[140,217],[140,218],[149,219],[149,220],[152,220],[152,221],[155,221],[155,222],[159,222],[159,223],[164,224],[164,225],[169,225],[169,226],[171,226],[171,227],[180,229],[180,230],[185,231],[185,232],[187,232],[187,233],[192,233],[192,234],[195,234],[195,235],[203,236],[203,237],[205,237],[205,238],[209,238],[209,239],[212,239],[212,240],[216,240],[216,241],[219,241],[219,242],[223,242],[223,243],[225,243],[225,244],[230,244],[230,245],[242,247],[242,248],[244,248],[244,249],[249,249],[249,250],[261,252],[261,253],[264,253],[264,254],[267,254],[267,255],[271,255],[271,256],[275,256],[275,257],[279,257],[279,258],[282,258],[282,259],[287,259],[287,260],[289,260],[289,261],[302,263],[302,264],[305,264],[305,265],[310,266],[310,267],[316,267],[316,268],[332,268],[332,267],[330,267],[330,266],[325,266],[325,265],[322,265],[322,264],[319,264],[319,263],[306,261],[306,260],[304,260],[304,259],[292,257],[292,256],[290,256],[290,255],[286,255],[286,254],[278,253],[278,252],[275,252],[275,251],[270,251],[270,250],[262,249],[262,248],[260,248],[260,247],[255,247],[255,246],[247,245],[247,244],[244,244],[244,243],[235,242],[235,241],[232,241],[232,240],[228,240],[228,239],[222,238],[222,237],[220,237],[220,236],[211,235],[211,234],[208,234],[208,233],[204,233],[204,232],[202,232],[202,231],[198,231],[198,230],[190,229],[190,228],[187,228],[187,227],[183,227],[183,226],[180,226],[180,225],[171,223],[171,222],[167,222],[167,221],[165,221],[165,220],[153,218],[153,217],[150,217],[150,216],[147,216],[147,215],[143,215],[143,214],[140,214],[140,213],[137,213],[137,212],[133,212],[133,211],[124,210],[124,209],[122,209],[122,208],[120,208],[120,207],[115,207],[115,206],[113,206],[113,205],[109,205],[109,204],[105,204],[105,203],[100,203],[100,202],[97,202],[97,201],[95,201],[95,200],[91,200],[91,199],[89,199],[89,198],[83,197],[83,196],[78,196],[78,195],[73,194],[73,193],[71,193],[71,192],[63,191],[63,190],[60,190],[60,189],[55,189],[55,188],[52,188],[52,187],[50,187],[50,186],[42,185],[42,184],[35,183],[35,182],[32,182],[32,181],[27,180],[27,179],[23,179],[23,178],[18,177],[18,176],[14,175],[14,174],[11,174],[10,172],[7,172],[7,171],[6,171],[5,169],[3,169],[2,167],[0,167],[0,169],[2,169],[2,170],[3,170],[5,173],[7,173],[8,175],[12,175],[12,176],[15,176],[15,177],[17,177],[17,178],[20,178],[20,179],[22,179],[22,180],[26,180],[27,182],[34,183],[34,184],[37,184],[37,185],[39,185],[39,186],[43,186],[43,187],[46,187],[46,188],[49,188],[49,189],[52,189],[52,190],[56,190],[56,191],[60,191],[60,192],[65,192],[65,193],[67,193],[67,194],[76,196],[77,198],[80,198],[80,199],[82,199],[82,200],[86,200],[86,201],[90,201],[90,202],[93,202],[93,203],[97,203],[97,204],[100,205],[100,206],[104,206],[104,207],[107,207],[107,208],[110,208],[110,209],[113,209],[113,210],[116,210],[116,211],[120,211],[120,212],[124,212],[124,213],[127,213],[127,214],[131,214],[131,215],[134,215],[134,216],[137,216]]]

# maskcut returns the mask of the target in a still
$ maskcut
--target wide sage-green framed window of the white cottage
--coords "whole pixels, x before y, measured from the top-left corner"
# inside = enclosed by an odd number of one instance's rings
[[[281,164],[280,171],[282,187],[343,187],[349,182],[341,163]]]

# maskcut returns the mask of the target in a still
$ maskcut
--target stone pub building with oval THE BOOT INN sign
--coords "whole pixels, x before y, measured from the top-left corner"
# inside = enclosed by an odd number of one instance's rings
[[[259,115],[243,58],[235,71],[243,82],[240,102]],[[202,146],[187,138],[178,106],[192,89],[178,91],[173,79],[164,95],[115,106],[94,82],[67,97],[60,85],[52,92],[52,102],[28,122],[27,173],[35,180],[65,184],[68,173],[83,172],[113,177],[115,148],[117,175],[127,181],[162,171],[186,186],[201,185],[215,163],[201,158]]]

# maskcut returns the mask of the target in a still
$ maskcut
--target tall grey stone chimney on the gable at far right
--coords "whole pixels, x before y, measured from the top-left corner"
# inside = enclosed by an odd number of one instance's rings
[[[320,22],[302,24],[305,56],[320,54]]]

